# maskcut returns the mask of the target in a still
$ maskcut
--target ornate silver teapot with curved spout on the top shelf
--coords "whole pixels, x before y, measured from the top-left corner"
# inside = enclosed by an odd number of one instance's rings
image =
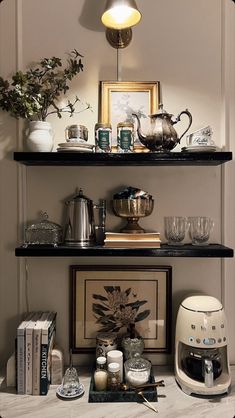
[[[173,125],[179,122],[181,116],[184,114],[188,116],[189,124],[180,138],[178,138]],[[160,110],[149,116],[151,125],[150,131],[147,135],[144,135],[141,131],[139,116],[136,113],[133,113],[132,115],[137,119],[137,134],[140,142],[153,152],[171,151],[178,143],[180,143],[181,138],[188,132],[192,124],[192,115],[187,109],[183,110],[175,119],[173,119],[173,115],[167,113],[161,104]]]

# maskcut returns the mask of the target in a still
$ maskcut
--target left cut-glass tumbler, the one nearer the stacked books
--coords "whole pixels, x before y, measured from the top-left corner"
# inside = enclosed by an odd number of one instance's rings
[[[182,245],[188,229],[184,216],[166,216],[164,218],[165,237],[169,245]]]

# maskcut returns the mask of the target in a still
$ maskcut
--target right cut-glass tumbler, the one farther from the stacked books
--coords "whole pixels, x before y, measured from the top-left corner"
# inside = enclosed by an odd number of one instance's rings
[[[194,216],[189,218],[189,236],[192,245],[208,245],[210,232],[214,222],[206,216]]]

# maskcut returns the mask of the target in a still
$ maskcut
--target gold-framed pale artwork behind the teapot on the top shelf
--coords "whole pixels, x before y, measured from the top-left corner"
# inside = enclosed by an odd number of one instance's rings
[[[132,116],[132,113],[136,113],[145,132],[149,124],[148,115],[158,110],[159,97],[159,81],[101,81],[99,121],[111,123],[115,140],[117,124],[126,121],[136,124]]]

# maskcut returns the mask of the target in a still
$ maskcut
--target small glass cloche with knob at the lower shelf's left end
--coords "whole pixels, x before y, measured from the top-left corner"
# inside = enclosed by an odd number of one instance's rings
[[[57,247],[62,242],[62,227],[48,221],[47,212],[41,212],[40,217],[38,222],[26,228],[24,246],[53,245]]]

